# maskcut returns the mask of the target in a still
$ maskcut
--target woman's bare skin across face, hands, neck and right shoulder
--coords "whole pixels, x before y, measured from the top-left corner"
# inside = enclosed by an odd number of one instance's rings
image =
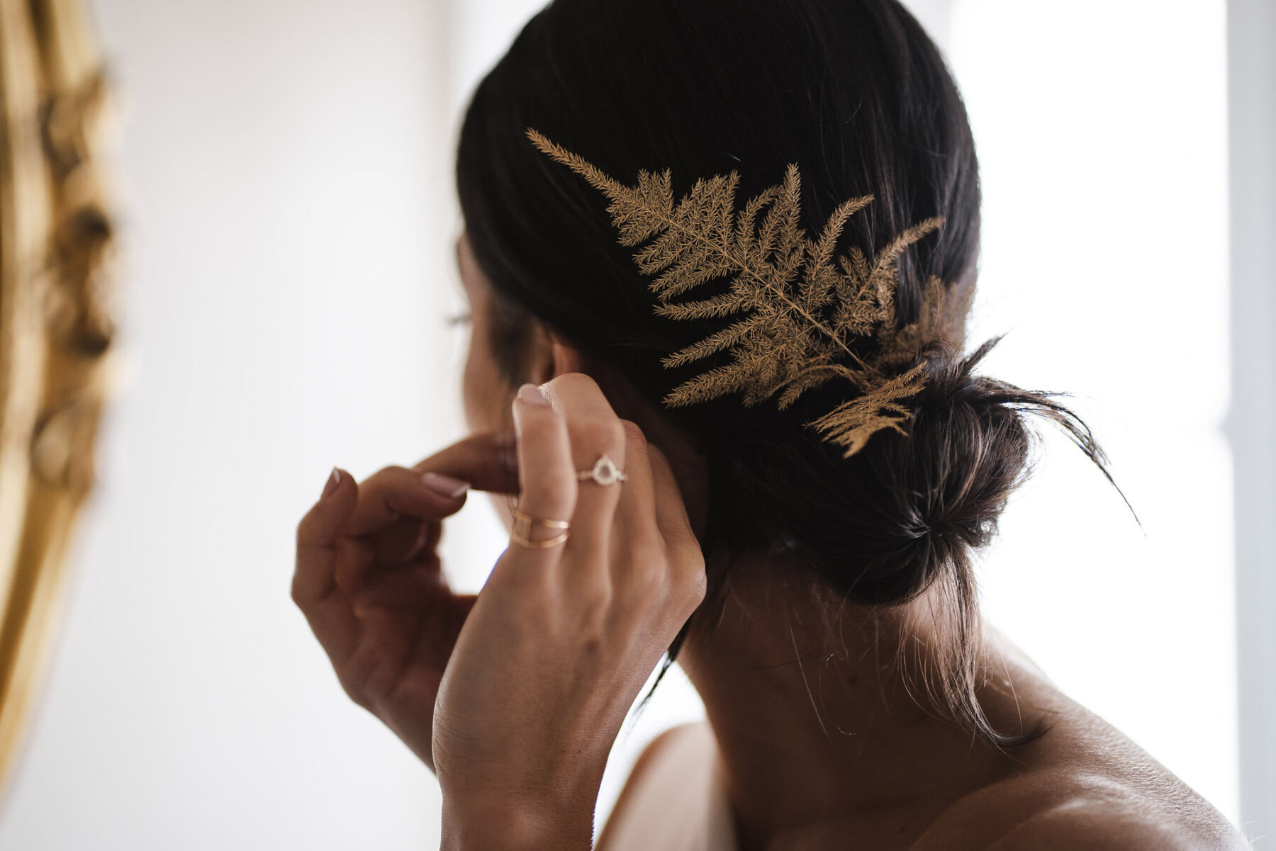
[[[551,404],[516,399],[493,360],[490,283],[464,235],[457,258],[475,436],[359,485],[343,475],[299,524],[293,582],[347,694],[436,771],[443,847],[590,848],[625,711],[688,618],[679,660],[718,741],[743,851],[1248,847],[990,626],[985,714],[1000,730],[1044,717],[1049,732],[1005,754],[924,709],[891,661],[907,635],[906,662],[935,663],[946,628],[930,616],[943,611],[933,593],[874,612],[800,565],[750,556],[721,616],[703,616],[704,468],[689,441],[612,390],[633,417],[619,418],[590,376],[615,388],[605,370],[544,329],[526,379]],[[500,439],[510,425],[513,447]],[[601,452],[628,481],[577,482],[573,471]],[[507,526],[508,494],[519,492],[528,513],[570,518],[570,536],[512,545],[477,600],[453,595],[434,546],[464,495],[422,486],[426,471],[490,491]]]

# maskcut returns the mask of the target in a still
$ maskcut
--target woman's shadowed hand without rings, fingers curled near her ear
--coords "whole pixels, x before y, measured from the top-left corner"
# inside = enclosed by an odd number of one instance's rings
[[[472,595],[452,593],[443,578],[435,552],[441,522],[464,504],[464,482],[517,490],[512,449],[495,435],[478,435],[413,470],[387,467],[357,485],[334,471],[339,478],[329,478],[297,524],[293,601],[346,694],[431,769],[439,680],[475,603]]]

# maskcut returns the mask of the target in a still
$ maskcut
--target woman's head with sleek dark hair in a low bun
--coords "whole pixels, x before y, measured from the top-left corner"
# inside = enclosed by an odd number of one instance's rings
[[[786,411],[735,394],[662,410],[688,374],[661,357],[725,323],[656,315],[605,199],[533,147],[528,126],[621,181],[669,168],[675,198],[731,170],[738,198],[753,198],[795,162],[808,233],[840,203],[874,195],[838,240],[870,262],[910,225],[944,217],[898,260],[901,325],[916,319],[931,276],[952,311],[944,336],[915,353],[928,380],[907,401],[907,435],[880,431],[843,458],[804,425],[854,396],[838,381]],[[531,353],[544,359],[546,339],[569,343],[621,417],[648,431],[658,422],[658,435],[703,461],[711,597],[730,556],[748,550],[785,552],[854,603],[902,603],[944,583],[953,628],[944,663],[926,676],[931,697],[985,739],[1013,741],[974,699],[970,552],[1027,475],[1021,410],[1054,418],[1100,466],[1102,457],[1045,394],[974,375],[995,339],[961,355],[979,254],[977,162],[965,106],[917,22],[896,0],[555,0],[476,89],[457,185],[463,248],[481,270],[471,278],[491,290],[486,327],[475,329],[484,351],[467,367],[471,416],[500,410],[476,389],[482,381],[499,376],[512,393],[537,375]]]

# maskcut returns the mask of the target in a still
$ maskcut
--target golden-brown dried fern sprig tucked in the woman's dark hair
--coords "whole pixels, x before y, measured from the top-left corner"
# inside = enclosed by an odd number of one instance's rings
[[[892,375],[915,360],[921,343],[940,334],[951,322],[943,282],[931,276],[923,292],[916,322],[900,328],[894,313],[898,286],[896,262],[903,250],[934,231],[943,218],[928,218],[896,236],[875,253],[873,264],[852,246],[833,263],[833,249],[846,219],[873,202],[873,195],[840,204],[818,240],[799,231],[800,179],[790,163],[783,182],[771,186],[735,211],[740,176],[716,175],[697,180],[683,200],[674,203],[670,170],[639,170],[638,185],[627,186],[597,167],[527,128],[541,152],[584,176],[611,200],[607,213],[620,232],[620,244],[638,246],[638,269],[655,276],[648,287],[660,300],[656,314],[670,319],[734,316],[735,322],[661,360],[666,369],[684,366],[729,351],[731,361],[675,387],[669,407],[704,402],[727,393],[744,393],[754,406],[780,394],[785,410],[803,393],[829,379],[842,378],[860,394],[808,422],[824,440],[859,452],[880,429],[907,434],[900,422],[911,411],[901,399],[925,385],[926,361]],[[766,208],[762,223],[758,216]],[[730,288],[698,301],[671,301],[695,287],[730,277]],[[796,286],[794,278],[800,278]],[[852,338],[875,337],[875,353],[861,357]],[[855,366],[843,361],[850,359]]]

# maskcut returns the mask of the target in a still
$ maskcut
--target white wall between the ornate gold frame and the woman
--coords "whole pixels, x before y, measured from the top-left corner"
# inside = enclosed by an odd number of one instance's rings
[[[334,463],[459,434],[440,8],[96,9],[128,96],[133,376],[0,848],[429,847],[435,783],[288,584]]]

